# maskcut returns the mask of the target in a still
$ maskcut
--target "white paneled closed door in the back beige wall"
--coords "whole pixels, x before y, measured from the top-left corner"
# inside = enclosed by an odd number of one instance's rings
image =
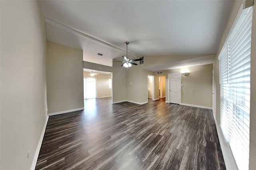
[[[180,74],[169,74],[169,103],[180,104]]]

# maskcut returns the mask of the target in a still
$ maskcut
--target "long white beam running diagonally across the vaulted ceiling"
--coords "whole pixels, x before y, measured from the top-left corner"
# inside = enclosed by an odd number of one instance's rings
[[[120,48],[118,48],[118,47],[116,47],[116,46],[114,46],[114,45],[111,45],[111,44],[109,44],[109,43],[105,43],[104,41],[101,41],[101,40],[99,40],[99,39],[96,39],[96,38],[94,38],[94,37],[92,37],[92,36],[90,36],[90,35],[86,35],[85,33],[82,33],[81,31],[72,29],[72,28],[67,27],[67,26],[65,26],[65,25],[62,25],[62,24],[60,24],[60,23],[58,23],[58,22],[55,22],[55,21],[53,21],[53,20],[50,20],[50,19],[48,19],[48,18],[46,18],[46,17],[44,17],[44,22],[47,23],[47,24],[49,24],[49,25],[52,25],[52,26],[54,26],[54,27],[56,27],[56,28],[62,29],[62,30],[67,31],[67,32],[70,32],[70,33],[72,33],[72,34],[74,34],[74,35],[78,35],[79,37],[83,37],[83,38],[85,38],[85,39],[90,39],[90,40],[92,40],[92,41],[95,41],[95,42],[97,42],[97,43],[100,43],[100,44],[102,44],[102,45],[105,45],[105,46],[107,46],[107,47],[110,47],[110,48],[112,48],[112,49],[118,50],[118,51],[120,51],[120,52],[122,52],[122,53],[126,53],[126,50],[120,49]],[[134,55],[134,54],[132,54],[132,53],[129,53],[129,52],[128,52],[128,55],[129,55],[129,56],[132,56],[131,58],[136,57],[136,55]]]

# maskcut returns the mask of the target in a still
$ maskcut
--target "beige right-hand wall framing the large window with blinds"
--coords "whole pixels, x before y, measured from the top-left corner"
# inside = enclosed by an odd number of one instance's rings
[[[219,84],[219,61],[218,55],[228,37],[228,33],[232,28],[232,25],[236,19],[238,11],[242,5],[241,0],[236,0],[230,14],[230,18],[227,22],[226,29],[222,35],[218,53],[214,60],[214,116],[217,119],[217,127],[220,126],[220,84]],[[253,6],[252,14],[252,47],[251,47],[251,106],[250,106],[250,158],[249,158],[249,170],[254,170],[256,167],[256,6]],[[222,135],[220,134],[219,137]],[[230,169],[235,169],[234,158],[232,153],[226,145],[222,145],[222,152],[227,155],[228,162],[225,162],[230,166]]]

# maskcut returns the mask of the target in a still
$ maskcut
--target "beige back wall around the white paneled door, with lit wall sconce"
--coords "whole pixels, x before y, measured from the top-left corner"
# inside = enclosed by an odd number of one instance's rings
[[[181,103],[195,106],[212,107],[212,69],[213,64],[182,67],[164,70],[166,76],[166,101],[168,101],[168,74],[188,70],[190,74],[181,74]]]

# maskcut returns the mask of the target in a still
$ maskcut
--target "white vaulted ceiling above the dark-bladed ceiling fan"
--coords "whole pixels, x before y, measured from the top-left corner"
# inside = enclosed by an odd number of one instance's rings
[[[216,53],[233,3],[233,0],[40,1],[49,41],[82,49],[84,61],[108,66],[112,66],[112,59],[120,60],[126,55],[126,41],[130,42],[130,58]]]

